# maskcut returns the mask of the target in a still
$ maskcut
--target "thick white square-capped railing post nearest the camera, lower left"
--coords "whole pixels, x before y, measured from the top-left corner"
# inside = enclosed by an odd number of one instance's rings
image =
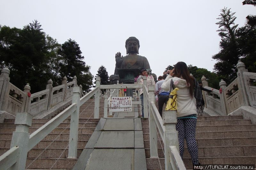
[[[28,129],[32,125],[32,115],[28,112],[17,113],[15,122],[16,130],[12,132],[11,147],[19,146],[19,155],[17,162],[10,167],[10,170],[24,170],[26,166],[29,133]]]

